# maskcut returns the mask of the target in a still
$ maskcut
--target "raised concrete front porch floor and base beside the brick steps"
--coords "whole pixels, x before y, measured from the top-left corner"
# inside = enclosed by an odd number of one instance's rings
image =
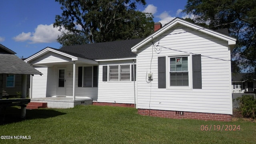
[[[46,98],[32,98],[30,102],[47,103],[48,108],[74,108],[76,105],[90,105],[92,98],[76,98],[72,97],[46,97]]]

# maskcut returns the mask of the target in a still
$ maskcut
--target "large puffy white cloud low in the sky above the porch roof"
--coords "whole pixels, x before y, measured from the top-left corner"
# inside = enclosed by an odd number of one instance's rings
[[[13,39],[15,41],[24,42],[26,40],[30,40],[32,44],[35,43],[50,43],[56,42],[58,35],[61,35],[61,32],[58,30],[59,27],[54,28],[53,24],[50,25],[38,25],[35,28],[35,32],[22,32],[18,36],[15,36]]]

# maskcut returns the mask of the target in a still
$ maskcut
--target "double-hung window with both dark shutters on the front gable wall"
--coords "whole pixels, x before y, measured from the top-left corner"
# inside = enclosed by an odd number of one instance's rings
[[[201,55],[159,56],[158,88],[166,87],[202,89]]]

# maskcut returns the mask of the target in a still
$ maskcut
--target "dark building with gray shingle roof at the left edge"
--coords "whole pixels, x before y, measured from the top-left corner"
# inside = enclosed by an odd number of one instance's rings
[[[7,106],[21,106],[21,118],[25,118],[26,104],[30,102],[30,99],[26,99],[27,76],[42,73],[32,68],[15,54],[15,52],[0,44],[0,112],[3,110],[3,115],[5,115]],[[3,95],[15,95],[14,92],[16,91],[21,93],[20,99],[3,99]]]

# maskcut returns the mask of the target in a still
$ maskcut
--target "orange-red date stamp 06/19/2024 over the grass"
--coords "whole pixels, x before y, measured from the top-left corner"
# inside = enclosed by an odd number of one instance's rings
[[[240,125],[201,125],[201,131],[240,131]]]

